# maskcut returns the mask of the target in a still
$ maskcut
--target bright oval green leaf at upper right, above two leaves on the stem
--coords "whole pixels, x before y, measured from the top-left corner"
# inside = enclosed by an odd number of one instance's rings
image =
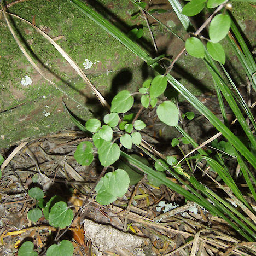
[[[222,40],[229,32],[231,19],[228,14],[216,15],[209,27],[209,37],[212,43],[217,43]]]

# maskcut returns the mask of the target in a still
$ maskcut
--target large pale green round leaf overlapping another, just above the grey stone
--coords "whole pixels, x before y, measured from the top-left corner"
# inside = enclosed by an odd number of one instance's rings
[[[129,187],[130,178],[123,169],[108,172],[104,176],[104,186],[106,190],[112,195],[122,197]]]

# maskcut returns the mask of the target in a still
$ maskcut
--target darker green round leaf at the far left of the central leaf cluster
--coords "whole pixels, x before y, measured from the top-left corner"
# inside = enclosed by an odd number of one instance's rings
[[[75,150],[74,158],[80,165],[90,165],[92,160],[94,160],[94,146],[89,141],[83,141],[77,146]]]

